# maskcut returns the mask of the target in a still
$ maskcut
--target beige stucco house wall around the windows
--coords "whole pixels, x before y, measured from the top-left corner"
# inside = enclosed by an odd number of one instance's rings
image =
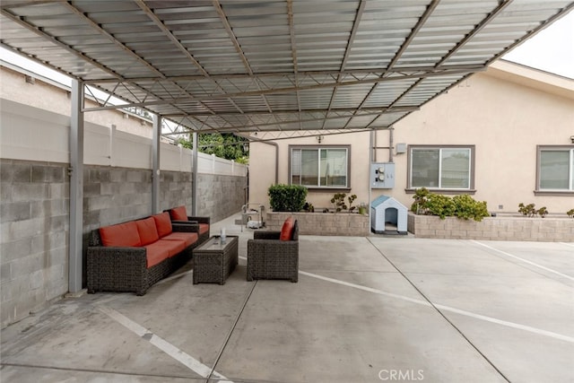
[[[440,95],[395,124],[394,146],[474,145],[474,189],[477,200],[486,201],[491,213],[517,213],[519,203],[546,206],[565,216],[574,208],[574,193],[561,196],[535,193],[537,145],[572,146],[574,135],[574,80],[547,74],[522,65],[500,61],[486,72],[474,74],[464,83]],[[271,136],[258,134],[260,139]],[[318,135],[318,133],[317,133]],[[389,161],[389,130],[372,137],[373,160]],[[277,136],[277,135],[274,135]],[[406,190],[408,151],[393,152],[395,187],[372,189],[370,193],[370,133],[324,135],[320,145],[351,145],[351,190],[355,204],[377,196],[393,196],[409,207],[413,190]],[[278,182],[289,183],[290,144],[317,144],[316,136],[277,140]],[[269,149],[251,144],[249,200],[268,205],[266,189],[274,169]],[[269,146],[269,145],[267,145]],[[309,192],[315,206],[329,206],[334,192]]]

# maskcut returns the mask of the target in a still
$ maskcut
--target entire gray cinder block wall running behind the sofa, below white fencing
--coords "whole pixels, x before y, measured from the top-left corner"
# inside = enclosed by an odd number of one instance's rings
[[[67,163],[0,160],[2,328],[68,291]],[[161,171],[160,208],[191,208],[192,175]],[[91,230],[152,213],[152,170],[84,165],[83,248]],[[198,213],[212,222],[239,212],[246,177],[198,175]]]

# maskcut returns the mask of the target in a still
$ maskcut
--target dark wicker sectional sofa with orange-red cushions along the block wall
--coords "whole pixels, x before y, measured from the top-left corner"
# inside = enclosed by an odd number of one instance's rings
[[[197,224],[172,224],[170,213],[91,231],[88,292],[135,292],[185,265],[203,242]]]

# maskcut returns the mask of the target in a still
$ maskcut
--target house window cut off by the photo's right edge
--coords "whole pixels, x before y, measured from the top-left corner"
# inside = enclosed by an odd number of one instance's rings
[[[538,147],[538,190],[574,191],[574,148]]]

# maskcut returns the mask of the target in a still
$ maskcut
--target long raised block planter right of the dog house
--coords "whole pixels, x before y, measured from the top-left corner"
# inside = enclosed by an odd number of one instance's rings
[[[571,218],[487,217],[482,222],[456,217],[441,220],[432,215],[409,213],[408,231],[418,238],[574,241]]]

